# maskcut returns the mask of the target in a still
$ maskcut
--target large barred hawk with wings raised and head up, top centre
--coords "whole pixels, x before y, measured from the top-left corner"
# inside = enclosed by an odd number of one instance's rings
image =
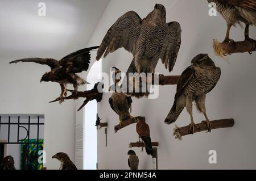
[[[166,9],[156,4],[146,18],[134,11],[122,15],[106,33],[98,48],[96,60],[118,48],[133,53],[137,73],[154,73],[159,58],[172,71],[181,43],[181,28],[177,22],[166,23]]]

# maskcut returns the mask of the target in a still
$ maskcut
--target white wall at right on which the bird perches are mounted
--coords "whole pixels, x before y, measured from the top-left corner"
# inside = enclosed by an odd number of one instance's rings
[[[216,88],[207,96],[208,117],[211,120],[234,118],[233,128],[217,129],[212,133],[196,133],[185,136],[183,141],[172,136],[174,124],[164,124],[172,103],[176,86],[160,87],[158,99],[134,99],[133,116],[146,116],[151,128],[152,141],[158,141],[159,169],[255,169],[256,146],[254,120],[256,97],[255,53],[233,54],[229,57],[230,64],[214,56],[212,40],[222,41],[226,32],[226,23],[218,14],[208,15],[207,1],[110,1],[104,15],[90,40],[90,44],[100,44],[108,28],[115,20],[129,10],[135,10],[143,18],[150,12],[155,3],[162,3],[167,10],[167,21],[176,20],[181,24],[182,43],[177,62],[172,75],[181,72],[191,64],[196,54],[208,53],[221,67],[222,75]],[[256,28],[250,27],[250,36],[256,37]],[[232,28],[230,37],[243,40],[243,30]],[[110,72],[112,66],[117,66],[124,73],[130,65],[132,55],[120,49],[109,54],[102,60],[102,71]],[[170,74],[159,62],[156,71]],[[129,169],[127,166],[127,150],[129,143],[138,141],[135,124],[114,133],[114,125],[118,124],[118,116],[111,110],[108,99],[110,94],[104,94],[98,111],[102,119],[108,121],[108,147],[105,147],[104,131],[98,131],[98,167],[99,169]],[[195,109],[194,119],[200,123],[204,119]],[[188,113],[184,110],[176,124],[188,125]],[[208,163],[208,151],[217,151],[217,164]],[[151,169],[151,157],[141,149],[134,149],[139,156],[139,169]]]

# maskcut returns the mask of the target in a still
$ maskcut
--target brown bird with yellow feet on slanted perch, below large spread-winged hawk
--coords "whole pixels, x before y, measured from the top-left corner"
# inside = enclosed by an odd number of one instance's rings
[[[134,118],[130,115],[129,108],[133,100],[130,96],[126,96],[123,92],[114,92],[109,98],[109,104],[112,110],[119,116],[119,124],[122,126],[122,121]]]

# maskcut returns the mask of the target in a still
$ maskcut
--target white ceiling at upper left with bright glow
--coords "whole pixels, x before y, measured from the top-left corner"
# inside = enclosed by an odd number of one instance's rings
[[[39,2],[46,16],[38,16]],[[109,0],[1,0],[0,57],[61,58],[84,48]]]

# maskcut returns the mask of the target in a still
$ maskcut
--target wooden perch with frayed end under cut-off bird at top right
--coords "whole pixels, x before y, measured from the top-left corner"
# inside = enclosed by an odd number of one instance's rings
[[[249,40],[237,41],[234,43],[218,43],[218,41],[214,39],[213,49],[217,56],[223,57],[226,56],[226,54],[232,53],[254,52],[256,51],[256,44]]]

